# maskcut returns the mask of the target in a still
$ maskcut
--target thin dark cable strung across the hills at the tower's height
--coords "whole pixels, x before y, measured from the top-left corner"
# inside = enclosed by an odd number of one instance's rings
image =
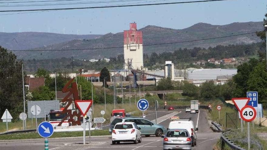
[[[204,40],[212,40],[217,38],[227,38],[232,36],[239,36],[239,35],[247,35],[252,34],[256,32],[250,32],[250,33],[242,33],[237,35],[228,35],[228,36],[221,36],[221,37],[215,37],[215,38],[203,38],[198,40],[188,40],[188,41],[178,41],[178,42],[169,42],[169,43],[159,43],[159,44],[148,44],[143,46],[154,46],[154,45],[166,45],[166,44],[176,44],[176,43],[185,43],[185,42],[197,42],[197,41],[204,41]],[[124,48],[124,46],[118,46],[118,47],[104,47],[104,48],[80,48],[80,49],[47,49],[47,50],[8,50],[13,52],[38,52],[38,51],[77,51],[77,50],[99,50],[99,49],[111,49],[111,48]]]

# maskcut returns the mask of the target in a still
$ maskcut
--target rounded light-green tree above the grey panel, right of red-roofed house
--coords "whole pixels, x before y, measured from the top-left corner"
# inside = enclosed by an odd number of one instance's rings
[[[41,86],[39,89],[32,92],[33,101],[53,100],[55,99],[55,92],[50,91],[48,86]]]

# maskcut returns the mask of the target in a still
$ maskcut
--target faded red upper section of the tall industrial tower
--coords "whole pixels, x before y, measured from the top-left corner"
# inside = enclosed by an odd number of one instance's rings
[[[124,44],[143,44],[143,33],[137,31],[136,23],[130,23],[130,30],[124,30]]]

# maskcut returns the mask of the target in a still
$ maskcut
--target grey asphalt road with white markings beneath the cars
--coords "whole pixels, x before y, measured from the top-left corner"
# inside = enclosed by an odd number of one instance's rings
[[[179,112],[179,111],[178,111]],[[157,118],[164,115],[168,115],[172,112],[159,111]],[[191,117],[195,125],[198,126],[197,131],[197,145],[193,148],[194,150],[211,150],[220,133],[214,133],[209,129],[208,121],[206,119],[206,112],[200,110],[198,114],[185,113],[181,110],[181,113],[177,114],[180,118]],[[146,115],[148,120],[155,119],[155,112],[150,111]],[[169,125],[170,120],[164,120],[160,122],[166,128]],[[51,138],[49,139],[49,150],[161,150],[162,149],[162,138],[161,137],[142,137],[142,143],[121,143],[119,145],[111,145],[111,136],[98,136],[92,137],[91,143],[89,144],[89,138],[86,137],[86,145],[83,145],[83,138]],[[0,141],[0,149],[2,150],[43,150],[44,139],[32,139],[32,140],[12,140],[12,141]]]

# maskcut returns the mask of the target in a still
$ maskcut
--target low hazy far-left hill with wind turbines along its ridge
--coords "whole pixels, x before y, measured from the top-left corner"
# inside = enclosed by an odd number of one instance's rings
[[[0,32],[0,45],[12,50],[25,50],[71,41],[73,39],[93,39],[101,35],[71,35],[45,32]]]

